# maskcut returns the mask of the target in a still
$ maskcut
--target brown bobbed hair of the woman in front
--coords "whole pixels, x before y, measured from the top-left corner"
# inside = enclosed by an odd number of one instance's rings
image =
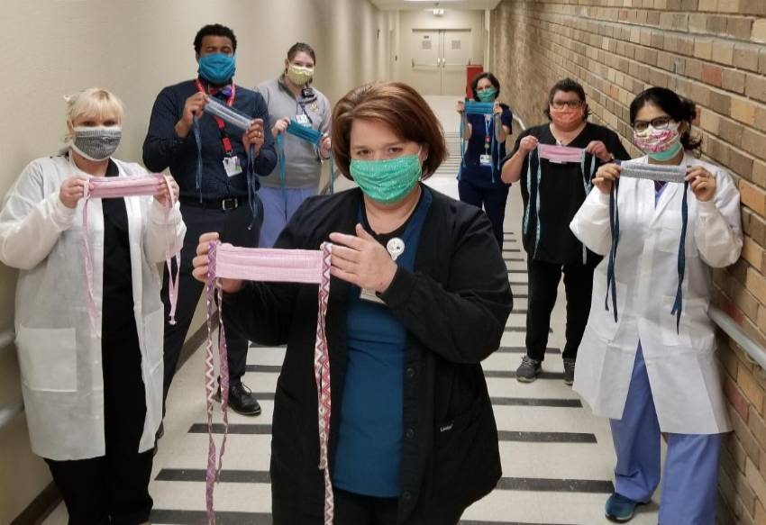
[[[352,89],[333,110],[333,157],[344,177],[351,179],[351,124],[354,119],[386,122],[404,140],[427,147],[423,178],[447,158],[444,132],[431,107],[415,89],[401,82],[375,82]]]

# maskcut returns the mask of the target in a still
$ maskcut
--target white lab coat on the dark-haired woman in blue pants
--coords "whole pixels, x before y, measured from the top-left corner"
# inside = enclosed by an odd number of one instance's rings
[[[632,162],[646,163],[647,158]],[[593,276],[593,299],[579,346],[574,389],[597,415],[622,419],[639,340],[663,432],[715,434],[731,430],[716,366],[716,338],[707,317],[711,267],[733,264],[742,249],[740,199],[720,167],[686,154],[683,164],[716,177],[716,195],[698,202],[688,190],[686,276],[679,332],[671,314],[678,286],[683,186],[668,184],[657,206],[654,183],[620,179],[620,240],[616,257],[618,321],[606,312],[608,257]],[[609,196],[594,187],[570,223],[589,249],[607,254]]]

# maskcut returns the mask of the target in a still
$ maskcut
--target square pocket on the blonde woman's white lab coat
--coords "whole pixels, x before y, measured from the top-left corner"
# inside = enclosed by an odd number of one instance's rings
[[[31,390],[77,392],[78,352],[74,328],[19,325],[16,348],[24,385]]]

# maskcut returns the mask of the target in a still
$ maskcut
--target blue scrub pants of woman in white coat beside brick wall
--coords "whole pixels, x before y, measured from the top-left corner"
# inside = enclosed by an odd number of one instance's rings
[[[660,423],[639,343],[622,420],[610,420],[616,492],[649,502],[660,483]],[[660,525],[715,525],[721,434],[668,434]]]

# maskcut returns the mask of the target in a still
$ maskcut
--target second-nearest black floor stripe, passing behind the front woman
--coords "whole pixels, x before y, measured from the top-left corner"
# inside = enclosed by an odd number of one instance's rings
[[[157,481],[204,482],[203,468],[163,468],[155,478]],[[226,470],[221,471],[221,483],[270,483],[269,471],[266,470]],[[503,491],[534,491],[556,493],[612,493],[611,481],[596,479],[550,479],[539,477],[501,477],[497,489]],[[216,512],[216,517],[217,517]]]

